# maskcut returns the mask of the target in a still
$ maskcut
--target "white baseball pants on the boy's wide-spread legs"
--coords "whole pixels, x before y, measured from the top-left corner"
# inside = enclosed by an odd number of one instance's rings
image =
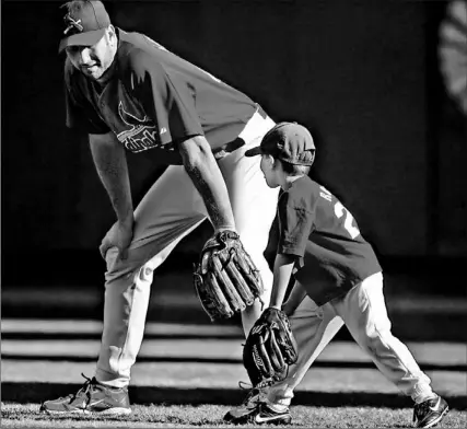
[[[288,312],[290,301],[301,301],[303,295],[302,286],[295,285],[284,311]],[[320,308],[306,295],[289,318],[299,346],[299,360],[289,368],[283,381],[268,390],[267,403],[279,407],[290,405],[293,391],[343,324],[377,369],[401,392],[417,402],[433,395],[430,379],[420,370],[409,349],[390,333],[382,273]]]

